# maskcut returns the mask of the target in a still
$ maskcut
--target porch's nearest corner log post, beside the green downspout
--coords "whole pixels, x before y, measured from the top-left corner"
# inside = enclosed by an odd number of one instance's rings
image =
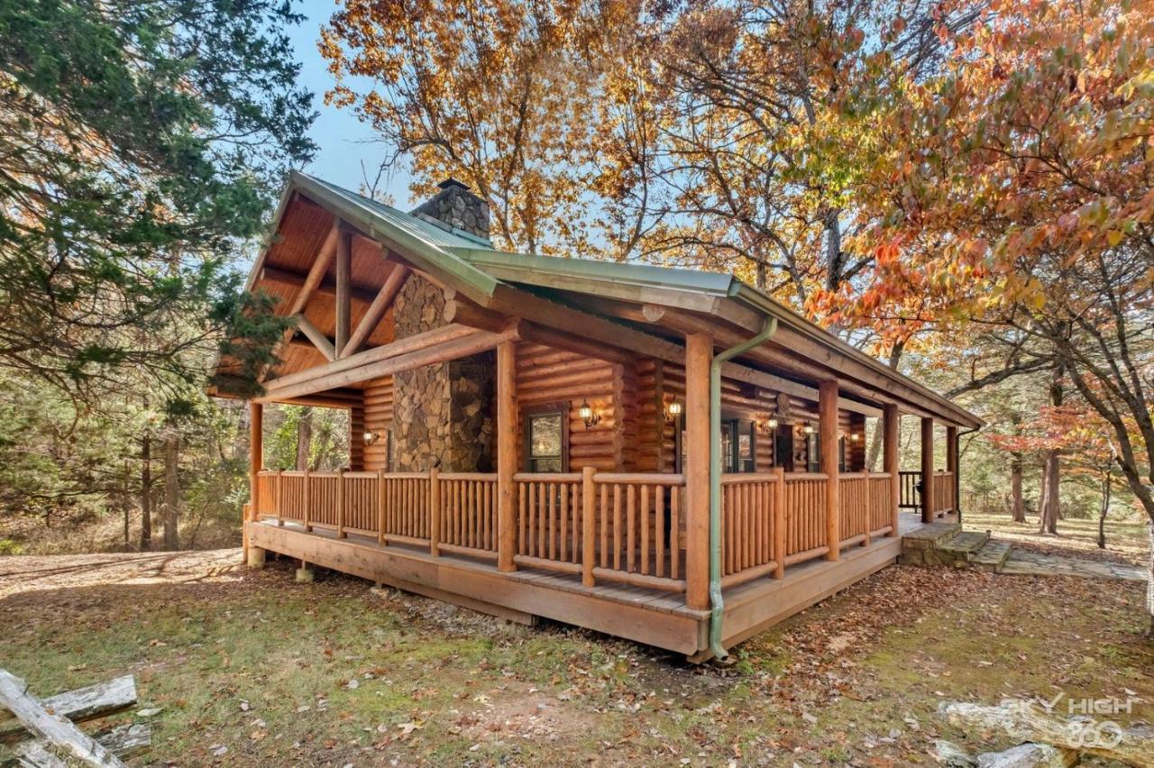
[[[710,607],[710,366],[713,337],[685,337],[685,605]]]

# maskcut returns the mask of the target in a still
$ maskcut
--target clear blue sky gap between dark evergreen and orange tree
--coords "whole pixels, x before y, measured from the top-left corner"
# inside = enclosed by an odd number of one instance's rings
[[[301,63],[300,81],[313,91],[313,105],[320,112],[309,135],[320,150],[304,170],[332,183],[357,189],[362,180],[361,161],[369,178],[384,157],[384,148],[374,144],[373,129],[357,120],[351,110],[338,110],[324,105],[324,91],[332,86],[332,75],[324,59],[316,50],[321,25],[337,8],[334,0],[304,0],[299,6],[308,18],[290,31],[297,50],[297,61]],[[407,210],[413,201],[409,196],[407,174],[396,173],[391,180],[382,181],[384,191],[392,195],[398,208]]]

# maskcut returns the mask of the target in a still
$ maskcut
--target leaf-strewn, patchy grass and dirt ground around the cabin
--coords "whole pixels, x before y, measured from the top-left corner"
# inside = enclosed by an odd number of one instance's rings
[[[896,566],[734,650],[728,669],[523,627],[235,549],[0,558],[0,667],[51,695],[136,676],[134,765],[934,765],[1009,746],[944,700],[1134,700],[1140,585]]]

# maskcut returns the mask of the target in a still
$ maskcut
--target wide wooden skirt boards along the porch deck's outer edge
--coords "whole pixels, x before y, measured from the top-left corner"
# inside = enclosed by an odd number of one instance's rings
[[[914,514],[901,515],[902,535],[921,528]],[[454,602],[511,620],[545,617],[583,626],[700,660],[707,655],[709,612],[685,608],[679,594],[622,585],[586,587],[578,577],[540,570],[501,573],[488,560],[442,555],[413,547],[381,547],[375,539],[275,520],[249,524],[252,545],[306,563]],[[837,562],[790,566],[785,578],[762,578],[725,590],[724,645],[752,637],[797,611],[892,564],[901,537],[848,547]]]

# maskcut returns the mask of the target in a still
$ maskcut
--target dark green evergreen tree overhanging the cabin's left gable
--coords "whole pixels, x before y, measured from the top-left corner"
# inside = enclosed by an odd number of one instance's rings
[[[290,2],[0,3],[0,366],[90,397],[249,313],[228,262],[308,159]],[[234,349],[255,374],[267,344]],[[96,399],[96,398],[90,398]]]

